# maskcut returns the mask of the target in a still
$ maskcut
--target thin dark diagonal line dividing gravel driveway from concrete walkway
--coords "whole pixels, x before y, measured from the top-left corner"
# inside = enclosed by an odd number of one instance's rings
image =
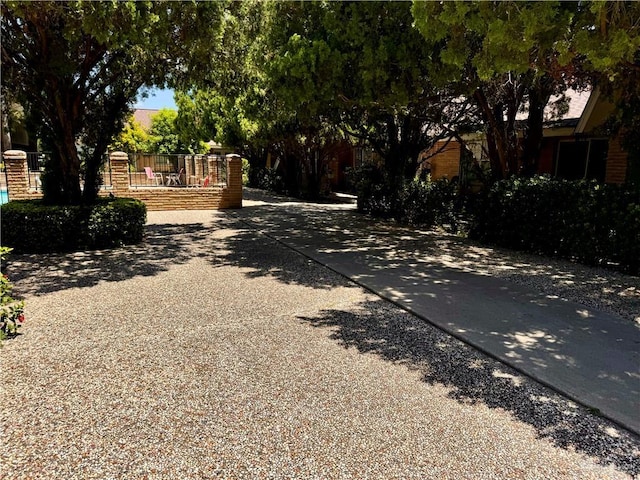
[[[603,412],[602,410],[600,410],[598,407],[594,407],[592,405],[589,405],[588,403],[584,402],[583,400],[579,399],[578,397],[574,396],[571,393],[565,392],[564,390],[562,390],[559,387],[556,387],[555,385],[552,385],[551,383],[549,383],[546,380],[543,380],[541,378],[538,378],[536,375],[528,373],[524,370],[522,370],[520,367],[517,367],[515,365],[512,365],[511,363],[509,363],[507,360],[502,359],[501,357],[499,357],[498,355],[486,350],[484,347],[475,344],[474,342],[460,336],[459,334],[457,334],[456,332],[453,332],[441,325],[438,325],[436,323],[434,323],[433,321],[429,320],[428,317],[426,317],[425,315],[422,315],[418,312],[415,312],[411,307],[408,307],[406,305],[403,305],[401,303],[399,303],[397,300],[393,300],[392,298],[387,297],[386,295],[384,295],[383,293],[378,292],[377,290],[374,290],[373,288],[369,287],[368,285],[355,280],[353,278],[351,278],[350,276],[340,272],[339,270],[336,270],[335,268],[333,268],[330,265],[327,265],[326,263],[318,260],[317,258],[314,258],[313,256],[303,252],[302,250],[298,249],[297,247],[294,247],[288,243],[286,243],[284,240],[279,239],[278,237],[274,236],[273,234],[267,232],[266,230],[260,229],[257,225],[254,225],[252,223],[250,223],[248,220],[240,218],[239,216],[236,216],[236,218],[238,220],[240,220],[242,223],[244,223],[245,225],[247,225],[248,227],[252,228],[254,231],[258,232],[260,235],[264,235],[267,238],[270,238],[271,240],[276,241],[277,243],[279,243],[280,245],[283,245],[284,247],[288,248],[289,250],[293,250],[294,252],[302,255],[303,257],[313,261],[314,263],[317,263],[318,265],[327,268],[329,270],[331,270],[334,273],[337,273],[338,275],[340,275],[342,278],[345,278],[346,280],[350,281],[351,283],[354,283],[356,285],[358,285],[361,288],[364,288],[365,290],[367,290],[370,293],[373,293],[374,295],[380,297],[381,299],[390,302],[391,304],[395,305],[396,307],[400,308],[401,310],[404,310],[407,313],[410,313],[411,315],[421,319],[422,321],[428,323],[429,325],[431,325],[432,327],[435,327],[436,329],[440,330],[441,332],[446,333],[447,335],[452,336],[453,338],[461,341],[462,343],[464,343],[465,345],[468,345],[472,348],[474,348],[475,350],[478,350],[479,352],[487,355],[489,358],[503,364],[506,365],[509,368],[512,368],[513,370],[515,370],[516,372],[520,373],[521,375],[529,378],[530,380],[533,380],[534,382],[537,382],[541,385],[544,385],[545,387],[549,388],[550,390],[552,390],[553,392],[562,395],[563,397],[568,398],[569,400],[577,403],[578,405],[584,407],[587,409],[587,412],[590,415],[594,415],[600,418],[605,418],[607,420],[609,420],[610,422],[614,423],[615,425],[617,425],[618,427],[622,428],[623,430],[626,430],[627,432],[629,432],[630,434],[636,436],[636,437],[640,437],[640,431],[636,432],[632,427],[630,427],[629,425],[626,425],[624,422],[621,422],[620,420],[617,420],[615,418],[612,418],[611,416],[609,416],[608,414],[606,414],[605,412]],[[597,411],[597,413],[596,413]]]

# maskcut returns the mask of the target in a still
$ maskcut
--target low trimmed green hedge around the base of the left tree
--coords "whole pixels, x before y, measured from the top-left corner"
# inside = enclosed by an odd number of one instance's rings
[[[0,207],[2,244],[16,252],[63,252],[138,243],[147,209],[131,198],[86,205],[17,200]]]

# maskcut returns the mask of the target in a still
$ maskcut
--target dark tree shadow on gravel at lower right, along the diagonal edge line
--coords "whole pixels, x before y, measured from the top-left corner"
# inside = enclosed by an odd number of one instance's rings
[[[506,410],[558,447],[640,474],[640,443],[634,434],[387,302],[360,307],[299,319],[330,328],[330,338],[345,348],[378,355],[418,371],[428,384],[449,387],[450,398]]]

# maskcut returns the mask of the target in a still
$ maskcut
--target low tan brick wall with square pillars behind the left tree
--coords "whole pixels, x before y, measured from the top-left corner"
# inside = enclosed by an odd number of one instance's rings
[[[7,151],[3,154],[7,167],[10,200],[35,199],[42,192],[29,189],[27,181],[27,155],[22,151]],[[242,160],[238,155],[227,155],[227,186],[207,188],[130,187],[129,164],[126,153],[111,155],[111,188],[100,191],[100,195],[137,198],[148,210],[218,210],[242,208]]]

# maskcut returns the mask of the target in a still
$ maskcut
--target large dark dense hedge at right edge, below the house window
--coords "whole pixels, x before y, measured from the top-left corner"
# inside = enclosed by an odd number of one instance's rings
[[[637,189],[538,176],[497,182],[478,200],[471,238],[639,273]]]

